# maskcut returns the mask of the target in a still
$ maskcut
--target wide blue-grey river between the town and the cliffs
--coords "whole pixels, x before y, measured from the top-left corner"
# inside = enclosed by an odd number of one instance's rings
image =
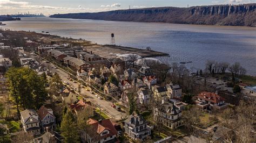
[[[104,20],[22,18],[4,22],[11,30],[42,32],[62,37],[83,38],[97,44],[151,49],[170,54],[171,62],[188,62],[187,67],[204,69],[207,60],[240,62],[247,74],[256,76],[256,27],[205,26],[166,23],[112,22]]]

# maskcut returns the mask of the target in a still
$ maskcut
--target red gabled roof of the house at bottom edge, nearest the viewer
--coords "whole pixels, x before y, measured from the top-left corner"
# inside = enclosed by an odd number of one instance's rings
[[[109,130],[109,134],[106,134],[106,135],[103,135],[102,137],[100,137],[102,139],[117,134],[117,130],[114,127],[113,123],[110,121],[110,119],[102,120],[101,123],[99,123],[99,121],[93,120],[90,118],[87,121],[87,124],[90,124],[93,127],[93,131],[96,131],[98,134],[102,133],[105,130]]]

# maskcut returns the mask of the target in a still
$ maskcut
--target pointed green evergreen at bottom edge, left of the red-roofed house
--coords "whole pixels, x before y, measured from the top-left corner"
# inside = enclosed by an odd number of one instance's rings
[[[65,142],[79,142],[79,133],[77,128],[77,121],[72,115],[71,111],[63,115],[62,123],[60,125],[61,135],[64,137]]]

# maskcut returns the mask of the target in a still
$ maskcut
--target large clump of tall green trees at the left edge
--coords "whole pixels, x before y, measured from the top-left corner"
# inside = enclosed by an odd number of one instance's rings
[[[37,75],[36,71],[29,68],[10,68],[6,77],[9,83],[11,97],[24,109],[38,109],[48,99],[45,89],[45,80]]]

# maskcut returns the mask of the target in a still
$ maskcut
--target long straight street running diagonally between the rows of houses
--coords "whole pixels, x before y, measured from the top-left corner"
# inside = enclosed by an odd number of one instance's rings
[[[45,61],[43,61],[45,63]],[[46,67],[50,67],[50,71],[52,73],[58,73],[59,76],[62,78],[62,81],[67,81],[70,83],[70,85],[73,85],[74,87],[78,88],[79,83],[74,83],[70,81],[68,78],[68,73],[63,71],[62,69],[55,69],[55,65],[52,63],[45,63]],[[91,91],[86,91],[84,88],[81,88],[80,96],[85,97],[89,101],[91,101],[95,105],[100,105],[100,108],[107,113],[107,115],[112,119],[112,120],[121,120],[125,117],[127,117],[126,113],[124,112],[119,112],[115,110],[114,108],[111,107],[111,102],[105,101],[104,99],[99,99],[95,95],[91,94]]]

